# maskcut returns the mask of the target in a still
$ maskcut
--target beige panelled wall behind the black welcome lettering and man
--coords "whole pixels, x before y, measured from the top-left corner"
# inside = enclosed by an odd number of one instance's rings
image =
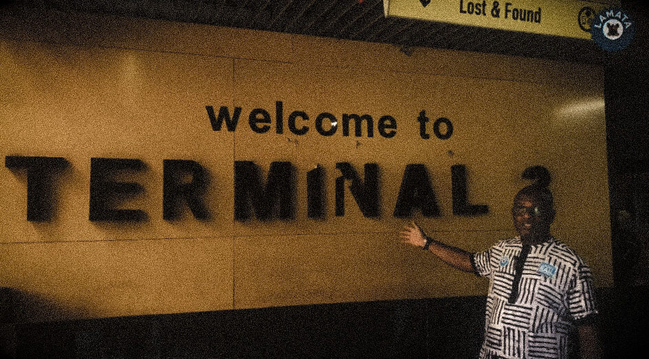
[[[0,169],[0,286],[60,308],[23,320],[122,316],[484,294],[486,282],[398,243],[392,213],[404,168],[424,163],[441,217],[414,217],[435,238],[469,251],[511,229],[511,199],[529,165],[554,180],[553,233],[610,286],[608,179],[602,70],[586,65],[415,49],[203,25],[87,15],[0,18],[0,154],[65,157],[53,220],[26,220],[26,177]],[[309,114],[307,135],[265,134],[248,113],[274,119],[283,101]],[[243,108],[235,132],[214,132],[205,106]],[[431,118],[419,137],[419,111]],[[397,119],[386,139],[323,137],[322,112]],[[448,140],[432,135],[447,117]],[[376,126],[376,125],[375,125]],[[92,157],[141,159],[125,181],[146,192],[124,204],[143,223],[88,220]],[[162,220],[162,161],[190,159],[210,174],[213,218]],[[293,221],[236,222],[234,161],[296,167]],[[336,163],[362,176],[380,166],[382,211],[364,218],[346,190],[333,215]],[[450,167],[467,167],[470,200],[485,216],[452,215]],[[307,217],[306,173],[322,165],[327,216]]]

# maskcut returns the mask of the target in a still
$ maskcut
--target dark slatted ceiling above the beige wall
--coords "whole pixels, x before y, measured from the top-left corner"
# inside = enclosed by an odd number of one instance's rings
[[[406,54],[416,47],[457,49],[599,63],[588,40],[385,18],[382,0],[25,0],[34,8],[287,32],[389,43]]]

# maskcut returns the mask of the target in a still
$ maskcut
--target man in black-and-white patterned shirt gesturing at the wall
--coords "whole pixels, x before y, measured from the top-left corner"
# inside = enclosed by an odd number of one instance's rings
[[[591,271],[550,234],[555,211],[548,183],[549,174],[544,185],[516,194],[511,217],[518,236],[482,253],[432,240],[415,222],[400,233],[446,264],[489,278],[481,359],[568,358],[575,328],[581,357],[601,357]]]

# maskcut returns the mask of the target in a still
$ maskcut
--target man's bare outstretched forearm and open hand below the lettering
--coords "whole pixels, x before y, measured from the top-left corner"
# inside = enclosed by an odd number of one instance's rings
[[[423,233],[421,228],[415,222],[410,222],[404,226],[404,229],[399,232],[399,238],[402,242],[423,248],[426,245],[426,233]],[[463,270],[465,272],[474,273],[473,266],[471,265],[470,253],[461,248],[449,246],[437,240],[431,240],[428,251],[437,255],[443,262]]]

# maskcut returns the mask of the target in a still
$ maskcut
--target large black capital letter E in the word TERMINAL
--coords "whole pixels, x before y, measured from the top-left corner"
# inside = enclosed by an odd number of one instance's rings
[[[90,159],[90,211],[91,221],[141,222],[146,212],[140,209],[117,209],[118,202],[144,192],[140,183],[117,182],[113,176],[120,172],[144,170],[139,159]]]

